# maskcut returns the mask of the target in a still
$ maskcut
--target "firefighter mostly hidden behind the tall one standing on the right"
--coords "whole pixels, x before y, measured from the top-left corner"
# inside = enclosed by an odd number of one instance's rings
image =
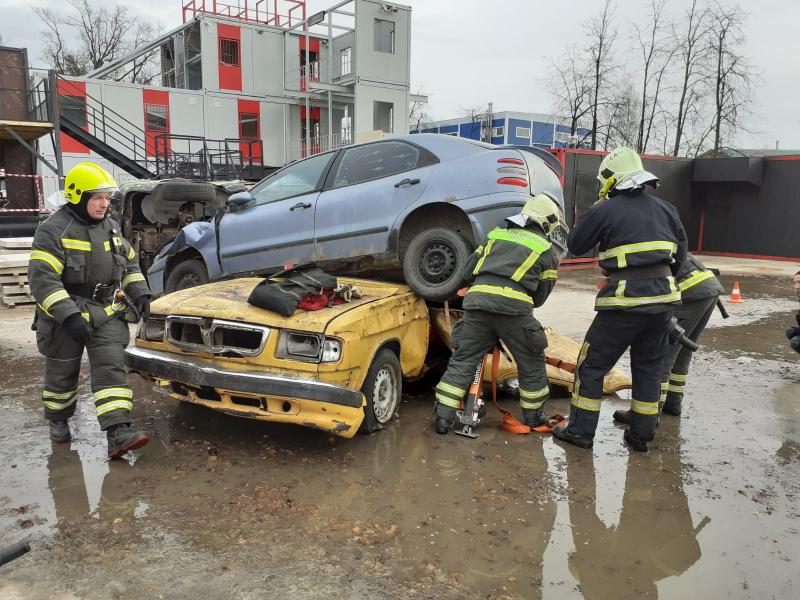
[[[696,342],[717,306],[719,295],[725,293],[725,289],[714,273],[691,254],[675,280],[681,292],[681,304],[675,307],[673,316],[678,319],[678,325],[686,330],[686,336]],[[689,348],[677,342],[669,347],[661,370],[660,412],[676,417],[681,414],[681,402],[693,354]],[[614,412],[614,420],[620,423],[630,423],[630,417],[629,410]]]

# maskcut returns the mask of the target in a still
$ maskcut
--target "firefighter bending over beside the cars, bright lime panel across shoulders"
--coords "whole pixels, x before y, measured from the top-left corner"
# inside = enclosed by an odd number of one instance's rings
[[[519,215],[496,228],[465,266],[473,282],[464,298],[464,317],[453,331],[453,356],[436,386],[436,431],[447,433],[480,361],[503,341],[519,370],[523,422],[546,420],[542,405],[550,394],[544,350],[547,337],[533,316],[556,283],[563,253],[548,240],[562,222],[561,209],[546,194],[529,200]]]

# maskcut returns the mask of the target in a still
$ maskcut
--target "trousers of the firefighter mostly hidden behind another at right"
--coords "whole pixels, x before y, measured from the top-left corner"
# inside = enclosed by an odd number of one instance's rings
[[[716,306],[717,296],[684,302],[675,307],[673,316],[678,319],[678,325],[686,330],[686,337],[696,342],[706,328]],[[665,401],[669,401],[670,404],[680,406],[693,354],[694,352],[678,343],[669,347],[661,371],[662,405]]]

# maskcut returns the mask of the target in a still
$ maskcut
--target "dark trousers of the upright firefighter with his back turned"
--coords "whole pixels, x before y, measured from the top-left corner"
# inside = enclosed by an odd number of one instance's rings
[[[669,349],[672,309],[648,314],[600,311],[592,321],[578,356],[568,430],[594,438],[603,398],[603,379],[630,348],[633,399],[631,434],[651,441],[658,422],[661,373]]]

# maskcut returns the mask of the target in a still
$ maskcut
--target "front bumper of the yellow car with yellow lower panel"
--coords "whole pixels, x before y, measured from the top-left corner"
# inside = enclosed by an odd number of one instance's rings
[[[294,423],[351,438],[364,419],[360,391],[265,371],[232,371],[147,348],[125,350],[127,367],[181,400],[228,414]],[[191,383],[190,383],[191,382]]]

